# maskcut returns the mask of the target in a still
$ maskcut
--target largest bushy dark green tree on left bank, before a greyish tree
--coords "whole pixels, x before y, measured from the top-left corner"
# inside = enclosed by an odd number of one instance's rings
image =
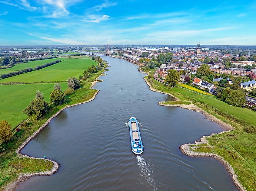
[[[23,110],[23,113],[31,116],[32,120],[37,120],[47,112],[48,103],[44,99],[34,99]]]

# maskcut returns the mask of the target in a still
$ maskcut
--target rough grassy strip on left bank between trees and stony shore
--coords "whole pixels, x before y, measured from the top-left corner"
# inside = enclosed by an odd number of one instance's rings
[[[106,64],[105,64],[106,66]],[[75,90],[71,95],[66,96],[66,102],[62,105],[50,104],[48,113],[37,121],[26,120],[19,126],[21,131],[15,132],[9,142],[0,145],[0,189],[8,183],[17,179],[20,173],[36,173],[52,169],[53,164],[42,159],[19,158],[16,150],[34,134],[49,118],[56,114],[60,109],[69,105],[87,102],[93,99],[97,93],[96,89],[91,89],[91,85],[105,70],[100,70],[86,81],[81,82],[81,88]],[[27,85],[27,84],[26,84]],[[31,85],[31,84],[28,84]],[[5,86],[5,85],[3,85]],[[16,85],[12,85],[16,86]],[[43,158],[44,156],[42,156]]]

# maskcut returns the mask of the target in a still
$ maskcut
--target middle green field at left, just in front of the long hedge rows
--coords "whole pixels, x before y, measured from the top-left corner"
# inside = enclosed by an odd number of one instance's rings
[[[79,77],[83,71],[91,65],[98,63],[91,59],[65,59],[60,63],[45,67],[41,70],[36,70],[28,73],[23,73],[17,76],[12,76],[5,79],[0,79],[0,83],[6,82],[54,82],[66,81],[69,77]]]

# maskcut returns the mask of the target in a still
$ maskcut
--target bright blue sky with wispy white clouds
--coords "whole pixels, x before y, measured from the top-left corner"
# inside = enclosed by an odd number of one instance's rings
[[[256,1],[0,0],[0,45],[256,45]]]

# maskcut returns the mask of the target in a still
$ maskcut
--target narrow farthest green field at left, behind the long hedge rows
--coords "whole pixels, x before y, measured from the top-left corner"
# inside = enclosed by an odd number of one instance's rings
[[[18,70],[24,70],[25,68],[34,68],[35,66],[39,66],[45,63],[52,62],[54,60],[66,60],[67,58],[51,58],[51,59],[45,59],[45,60],[35,60],[35,61],[30,61],[28,63],[21,63],[21,64],[16,64],[12,68],[7,68],[7,69],[1,69],[0,70],[0,75],[4,73],[9,73],[9,72],[14,72]]]

